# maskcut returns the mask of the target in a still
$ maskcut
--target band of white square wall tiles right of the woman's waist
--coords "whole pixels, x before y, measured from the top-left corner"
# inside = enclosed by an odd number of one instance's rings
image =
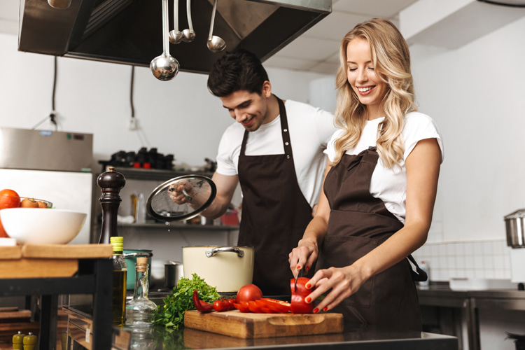
[[[430,281],[452,277],[510,279],[510,248],[505,240],[428,242],[412,255],[430,267]]]

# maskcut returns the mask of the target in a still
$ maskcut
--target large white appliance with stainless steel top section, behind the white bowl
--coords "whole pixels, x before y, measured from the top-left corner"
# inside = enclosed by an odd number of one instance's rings
[[[0,189],[87,214],[70,244],[90,243],[93,135],[0,127]]]

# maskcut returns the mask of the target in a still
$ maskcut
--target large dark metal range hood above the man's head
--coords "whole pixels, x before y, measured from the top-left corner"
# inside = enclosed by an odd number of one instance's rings
[[[173,29],[173,1],[169,28]],[[181,71],[208,73],[223,55],[207,48],[212,0],[193,0],[191,43],[170,44]],[[226,51],[244,48],[264,61],[323,19],[332,0],[218,0],[214,35]],[[179,0],[179,29],[188,28],[186,1]],[[314,48],[312,48],[314,49]],[[47,0],[20,0],[18,50],[104,62],[149,66],[162,53],[160,0],[73,0],[52,8]]]

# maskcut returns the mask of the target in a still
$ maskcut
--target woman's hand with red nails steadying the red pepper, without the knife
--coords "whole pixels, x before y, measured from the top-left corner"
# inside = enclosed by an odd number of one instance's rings
[[[316,290],[310,293],[305,301],[308,303],[315,302],[320,295],[331,289],[330,293],[315,307],[314,313],[316,314],[320,310],[328,311],[336,307],[346,297],[356,293],[366,280],[363,272],[360,272],[354,265],[320,269],[306,284],[306,288],[311,289],[316,286]]]

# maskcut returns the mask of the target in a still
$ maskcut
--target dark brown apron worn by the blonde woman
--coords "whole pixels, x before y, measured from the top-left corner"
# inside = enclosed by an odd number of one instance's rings
[[[326,175],[324,191],[330,203],[330,219],[318,269],[351,265],[403,227],[383,201],[370,195],[370,179],[378,158],[375,147],[358,155],[344,154]],[[412,274],[409,261],[403,259],[372,276],[332,311],[344,314],[346,322],[421,330]]]

